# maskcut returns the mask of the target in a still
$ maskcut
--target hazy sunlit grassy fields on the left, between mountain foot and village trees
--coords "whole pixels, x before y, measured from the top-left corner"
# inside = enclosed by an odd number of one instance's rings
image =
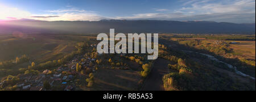
[[[30,58],[28,62],[2,69],[1,73],[7,73],[0,76],[13,73],[20,68],[27,68],[31,62],[43,63],[60,59],[76,50],[77,42],[93,38],[79,35],[0,35],[0,62],[10,61],[22,55],[27,55]]]

